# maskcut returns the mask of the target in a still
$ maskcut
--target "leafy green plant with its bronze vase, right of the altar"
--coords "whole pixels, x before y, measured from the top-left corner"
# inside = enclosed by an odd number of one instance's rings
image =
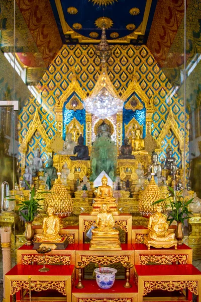
[[[168,210],[167,220],[169,221],[169,225],[175,220],[177,222],[177,228],[175,232],[176,240],[178,241],[178,245],[182,244],[183,239],[183,230],[182,224],[184,224],[184,220],[191,217],[192,212],[188,209],[188,205],[192,202],[193,198],[185,199],[182,192],[183,190],[176,193],[171,187],[168,187],[172,196],[168,196],[165,199],[159,199],[153,203],[153,205],[160,203],[162,201],[168,201],[166,203],[166,208],[170,207]]]

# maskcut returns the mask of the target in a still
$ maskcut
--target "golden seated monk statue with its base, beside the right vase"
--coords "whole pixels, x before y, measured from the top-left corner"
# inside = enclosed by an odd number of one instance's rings
[[[162,206],[156,205],[156,213],[149,217],[148,229],[150,231],[147,238],[145,238],[145,244],[153,247],[168,248],[171,246],[177,246],[177,240],[175,240],[175,234],[168,231],[169,224],[167,223],[167,216],[162,214]]]

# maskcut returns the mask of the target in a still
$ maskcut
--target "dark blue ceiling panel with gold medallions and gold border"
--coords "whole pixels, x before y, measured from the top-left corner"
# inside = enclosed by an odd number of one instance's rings
[[[63,44],[146,44],[157,0],[50,0]],[[104,17],[104,19],[103,19]]]

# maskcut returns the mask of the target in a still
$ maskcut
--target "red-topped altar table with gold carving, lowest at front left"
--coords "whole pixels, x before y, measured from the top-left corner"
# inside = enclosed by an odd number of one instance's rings
[[[27,291],[30,289],[31,291],[56,289],[66,297],[67,302],[70,302],[71,287],[74,282],[74,265],[47,265],[50,269],[48,272],[39,272],[41,267],[42,265],[22,264],[14,266],[5,278],[6,302],[11,302],[11,296],[18,293],[21,288]],[[17,301],[22,301],[22,295],[17,295]]]

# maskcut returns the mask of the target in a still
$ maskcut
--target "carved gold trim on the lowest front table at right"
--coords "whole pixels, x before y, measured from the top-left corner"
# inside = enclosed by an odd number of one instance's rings
[[[181,290],[188,288],[192,293],[198,294],[197,281],[144,281],[143,295],[151,292],[153,289],[162,289],[167,291]]]

